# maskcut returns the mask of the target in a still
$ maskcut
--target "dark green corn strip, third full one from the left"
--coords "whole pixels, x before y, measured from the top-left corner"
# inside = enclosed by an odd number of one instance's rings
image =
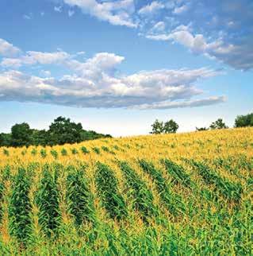
[[[94,221],[93,197],[84,177],[83,170],[69,166],[67,168],[67,202],[71,215],[79,227],[84,221]]]

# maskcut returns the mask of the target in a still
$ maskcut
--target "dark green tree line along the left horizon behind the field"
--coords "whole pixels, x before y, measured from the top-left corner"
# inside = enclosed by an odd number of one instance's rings
[[[83,130],[82,124],[59,116],[48,130],[31,129],[27,122],[15,124],[10,134],[0,134],[0,146],[63,145],[97,138],[111,138],[109,134],[98,134],[94,130]]]

